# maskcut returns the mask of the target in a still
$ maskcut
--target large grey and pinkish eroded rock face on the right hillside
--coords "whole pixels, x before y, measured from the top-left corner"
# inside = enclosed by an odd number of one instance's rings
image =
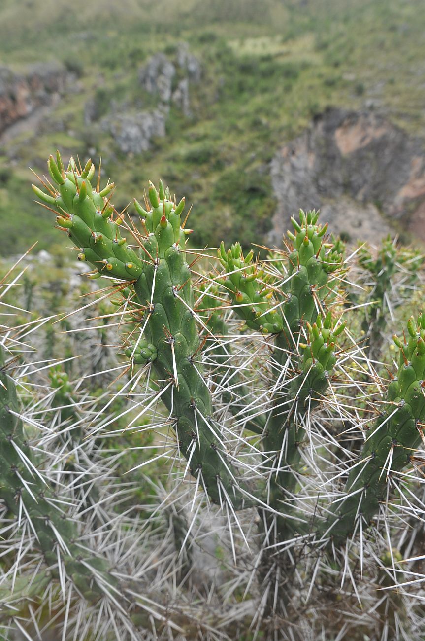
[[[392,219],[425,240],[424,147],[376,113],[326,110],[280,149],[271,178],[278,199],[273,244],[300,207],[325,206],[353,239],[378,240]]]

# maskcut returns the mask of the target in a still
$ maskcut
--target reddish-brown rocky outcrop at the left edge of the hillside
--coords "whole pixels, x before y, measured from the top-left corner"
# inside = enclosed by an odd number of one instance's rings
[[[0,67],[0,133],[37,108],[54,104],[69,77],[65,67],[56,63],[31,65],[22,75]]]

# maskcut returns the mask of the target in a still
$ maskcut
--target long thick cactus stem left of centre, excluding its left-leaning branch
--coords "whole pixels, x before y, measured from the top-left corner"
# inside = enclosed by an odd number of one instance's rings
[[[163,381],[161,398],[175,417],[180,451],[188,459],[191,474],[202,474],[214,502],[229,500],[234,508],[241,508],[248,503],[239,490],[237,472],[227,460],[220,428],[212,419],[211,392],[196,356],[200,338],[180,226],[184,201],[175,206],[165,192],[163,199],[161,196],[151,183],[152,209],[146,213],[148,233],[141,239],[141,251],[152,260],[143,263],[143,273],[134,283],[138,301],[145,306],[143,337],[156,348],[152,367]],[[136,333],[134,338],[137,342]]]

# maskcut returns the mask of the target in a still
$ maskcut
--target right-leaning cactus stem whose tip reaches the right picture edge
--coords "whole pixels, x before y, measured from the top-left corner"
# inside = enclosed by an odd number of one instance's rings
[[[368,525],[387,497],[389,478],[411,465],[425,419],[425,314],[407,324],[408,338],[394,342],[399,368],[389,383],[382,411],[366,437],[359,464],[351,469],[346,497],[333,504],[324,533],[337,542],[353,533],[359,519]],[[405,332],[403,332],[403,335]],[[362,461],[362,463],[360,463]]]

